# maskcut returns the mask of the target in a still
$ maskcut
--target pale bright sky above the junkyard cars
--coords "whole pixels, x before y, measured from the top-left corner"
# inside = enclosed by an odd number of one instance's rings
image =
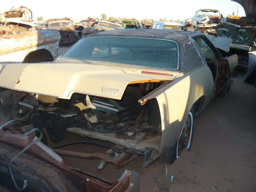
[[[200,8],[219,10],[222,14],[245,16],[244,9],[231,0],[94,0],[94,1],[59,1],[59,0],[0,0],[0,13],[10,10],[12,6],[19,8],[25,6],[32,10],[34,20],[39,16],[44,19],[70,17],[75,20],[82,18],[98,17],[105,13],[107,17],[116,18],[145,18],[158,20],[186,20],[192,18],[195,11]]]

